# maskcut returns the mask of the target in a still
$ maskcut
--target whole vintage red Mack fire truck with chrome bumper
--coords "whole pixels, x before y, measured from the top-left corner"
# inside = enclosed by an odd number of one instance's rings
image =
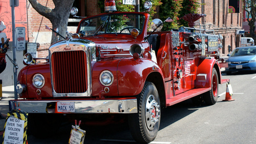
[[[107,11],[115,10],[111,2]],[[151,142],[164,107],[190,98],[214,105],[226,81],[219,64],[223,37],[185,27],[159,32],[160,19],[148,33],[148,23],[146,12],[83,18],[77,34],[51,45],[46,63],[24,56],[22,99],[9,106],[39,115],[128,114],[132,137]]]

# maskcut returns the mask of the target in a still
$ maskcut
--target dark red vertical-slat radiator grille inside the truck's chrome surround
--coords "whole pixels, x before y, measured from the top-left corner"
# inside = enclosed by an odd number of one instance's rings
[[[86,92],[86,61],[83,50],[52,53],[52,82],[56,93]]]

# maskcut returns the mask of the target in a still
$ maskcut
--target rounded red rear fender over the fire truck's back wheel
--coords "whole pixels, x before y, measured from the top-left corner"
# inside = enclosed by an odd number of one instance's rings
[[[218,65],[214,58],[209,57],[199,60],[196,71],[196,88],[211,88],[211,73],[213,73],[214,65]],[[220,78],[219,69],[216,69],[216,71]]]

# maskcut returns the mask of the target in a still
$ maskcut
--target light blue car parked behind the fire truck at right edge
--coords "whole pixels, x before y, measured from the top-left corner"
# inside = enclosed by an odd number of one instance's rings
[[[228,68],[225,68],[227,74],[256,70],[256,46],[235,48],[228,56]]]

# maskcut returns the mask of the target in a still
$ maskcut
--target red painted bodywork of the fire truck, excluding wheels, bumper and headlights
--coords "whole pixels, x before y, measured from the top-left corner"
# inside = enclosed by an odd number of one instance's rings
[[[144,40],[147,36],[149,15],[136,12],[112,14],[141,14],[140,17],[143,16],[145,21],[140,34],[136,38],[122,33],[81,38],[80,41],[93,42],[93,47],[96,50],[93,56],[98,58],[97,60],[93,60],[93,58],[89,60],[91,55],[86,54],[91,49],[76,44],[76,42],[73,42],[73,46],[68,49],[65,46],[69,43],[67,40],[53,44],[50,48],[49,63],[27,65],[19,73],[19,84],[26,85],[27,89],[19,94],[24,100],[17,101],[130,100],[136,99],[136,96],[144,88],[145,82],[150,81],[155,84],[161,97],[161,106],[165,107],[211,90],[213,69],[216,69],[218,73],[217,82],[219,84],[226,81],[221,80],[218,60],[215,59],[215,56],[211,56],[215,52],[209,52],[206,49],[205,55],[202,55],[200,50],[189,49],[191,43],[201,42],[200,39],[197,42],[189,43],[188,38],[192,33],[155,32],[157,49],[154,49],[156,56],[156,61],[154,61],[152,60],[154,53],[151,51],[151,43],[149,40]],[[106,13],[93,17],[105,15]],[[110,14],[108,13],[108,15]],[[77,33],[80,32],[79,28],[82,27],[82,22],[93,17],[82,19]],[[208,41],[206,39],[205,43]],[[129,50],[134,44],[145,49],[139,59],[134,59],[130,55]],[[76,48],[72,47],[82,48],[75,51]],[[85,48],[88,49],[84,50]],[[114,77],[109,86],[102,85],[100,82],[100,76],[104,70],[111,71]],[[33,75],[37,73],[42,74],[45,78],[45,85],[40,88],[40,94],[37,93],[38,88],[32,84]],[[62,95],[58,96],[58,93],[62,93]],[[70,93],[76,93],[76,95],[68,96]]]

